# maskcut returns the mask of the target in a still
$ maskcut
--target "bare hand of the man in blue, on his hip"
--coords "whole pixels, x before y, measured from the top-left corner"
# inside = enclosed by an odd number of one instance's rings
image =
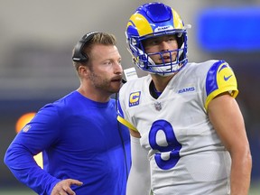
[[[70,189],[71,185],[81,186],[83,182],[78,180],[67,179],[58,182],[51,191],[51,195],[76,195],[76,193]]]

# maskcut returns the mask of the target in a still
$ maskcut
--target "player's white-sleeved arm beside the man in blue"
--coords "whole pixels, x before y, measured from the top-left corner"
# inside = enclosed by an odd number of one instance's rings
[[[147,151],[140,144],[140,134],[130,130],[132,166],[127,181],[127,195],[150,195],[151,178]]]

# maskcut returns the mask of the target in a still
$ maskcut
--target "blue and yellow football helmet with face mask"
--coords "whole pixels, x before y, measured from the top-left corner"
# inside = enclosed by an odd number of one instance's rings
[[[177,39],[177,51],[145,53],[142,44],[144,40],[172,34]],[[184,26],[180,15],[170,6],[162,3],[149,3],[139,6],[127,23],[125,35],[134,63],[141,70],[168,76],[181,70],[188,63],[187,27]],[[172,56],[172,52],[177,52],[177,57],[176,59],[171,58],[171,62],[163,61],[162,64],[155,64],[150,57],[159,54],[163,59],[163,54],[168,53]]]

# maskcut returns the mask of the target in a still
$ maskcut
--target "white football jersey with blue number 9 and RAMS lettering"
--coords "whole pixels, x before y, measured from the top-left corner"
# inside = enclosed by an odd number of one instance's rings
[[[237,97],[237,79],[228,63],[189,63],[159,98],[149,91],[150,75],[125,83],[118,120],[138,131],[148,151],[156,195],[228,194],[231,159],[209,123],[209,102],[228,91]]]

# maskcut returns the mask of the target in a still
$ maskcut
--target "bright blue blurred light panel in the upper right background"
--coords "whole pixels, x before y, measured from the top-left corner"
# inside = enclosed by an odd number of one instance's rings
[[[205,51],[260,51],[260,7],[205,9],[197,37]]]

